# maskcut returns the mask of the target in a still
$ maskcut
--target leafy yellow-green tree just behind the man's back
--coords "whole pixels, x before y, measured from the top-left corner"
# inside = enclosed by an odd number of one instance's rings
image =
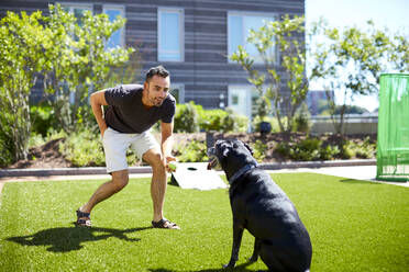
[[[51,65],[45,73],[46,92],[53,94],[48,102],[64,131],[71,132],[78,123],[89,120],[84,105],[90,92],[100,90],[112,67],[129,60],[134,48],[106,49],[104,43],[121,29],[125,19],[110,22],[107,14],[92,15],[86,11],[77,23],[74,14],[59,5],[49,5],[46,23],[53,39]],[[74,103],[70,103],[70,98]],[[88,106],[86,106],[88,107]],[[87,125],[87,124],[86,124]]]

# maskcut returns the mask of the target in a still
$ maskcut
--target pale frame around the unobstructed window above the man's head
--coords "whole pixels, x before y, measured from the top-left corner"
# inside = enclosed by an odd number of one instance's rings
[[[163,59],[161,58],[161,14],[163,12],[173,12],[173,13],[179,13],[179,50],[180,50],[180,59],[178,60],[172,60],[172,59]],[[164,55],[164,54],[163,54]],[[169,63],[184,63],[185,61],[185,10],[180,8],[168,8],[168,7],[158,7],[157,8],[157,60],[158,61],[169,61]]]

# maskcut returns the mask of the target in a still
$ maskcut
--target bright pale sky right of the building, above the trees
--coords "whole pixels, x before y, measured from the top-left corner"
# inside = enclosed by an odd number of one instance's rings
[[[409,0],[306,0],[307,27],[320,16],[331,26],[341,29],[364,27],[368,20],[373,20],[379,29],[400,30],[409,38]],[[322,90],[322,87],[311,82],[310,90]],[[378,107],[378,99],[362,97],[353,104],[374,111]]]

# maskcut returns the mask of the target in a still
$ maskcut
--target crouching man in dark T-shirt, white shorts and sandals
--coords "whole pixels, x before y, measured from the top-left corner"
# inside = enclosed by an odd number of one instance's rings
[[[112,180],[100,185],[91,199],[78,208],[77,225],[90,226],[90,213],[95,205],[128,184],[126,150],[131,147],[153,170],[153,227],[179,229],[163,215],[167,172],[170,171],[168,163],[176,160],[170,154],[176,101],[169,94],[169,72],[158,66],[147,71],[143,86],[123,84],[91,94],[92,112],[102,135],[107,172]],[[102,105],[108,105],[104,116]],[[159,120],[161,146],[150,133],[150,128]]]

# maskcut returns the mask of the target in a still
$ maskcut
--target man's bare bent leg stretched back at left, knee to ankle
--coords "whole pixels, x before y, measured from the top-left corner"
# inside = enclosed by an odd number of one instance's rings
[[[111,195],[126,186],[128,181],[128,169],[112,172],[112,180],[100,185],[92,194],[91,199],[79,209],[84,213],[90,213],[98,203],[109,199]]]

